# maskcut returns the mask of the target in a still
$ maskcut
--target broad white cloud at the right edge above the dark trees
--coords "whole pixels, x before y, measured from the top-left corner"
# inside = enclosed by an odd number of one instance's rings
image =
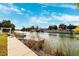
[[[51,14],[50,18],[56,21],[61,21],[64,24],[74,24],[79,25],[79,15],[69,15],[69,14]]]

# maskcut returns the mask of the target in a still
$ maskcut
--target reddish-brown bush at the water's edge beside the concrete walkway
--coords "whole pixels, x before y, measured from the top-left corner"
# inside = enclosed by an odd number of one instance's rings
[[[43,43],[44,40],[41,41],[35,41],[35,40],[25,40],[24,44],[27,45],[29,48],[33,49],[33,50],[42,50],[43,49]]]

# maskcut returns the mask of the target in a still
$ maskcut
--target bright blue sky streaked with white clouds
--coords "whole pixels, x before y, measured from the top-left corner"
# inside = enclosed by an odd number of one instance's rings
[[[17,29],[32,25],[79,25],[79,9],[71,3],[0,3],[2,20],[11,20]]]

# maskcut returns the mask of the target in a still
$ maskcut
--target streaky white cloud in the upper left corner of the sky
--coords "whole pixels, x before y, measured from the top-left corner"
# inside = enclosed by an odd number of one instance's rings
[[[21,10],[24,10],[24,9],[22,8]],[[14,6],[13,4],[8,4],[8,5],[0,4],[0,11],[2,11],[3,13],[15,12],[17,14],[22,14],[21,10],[18,7]]]

